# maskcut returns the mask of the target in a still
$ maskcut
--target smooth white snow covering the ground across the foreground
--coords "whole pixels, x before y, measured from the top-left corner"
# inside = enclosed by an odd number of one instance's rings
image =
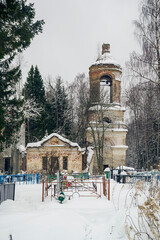
[[[126,194],[129,184],[111,181],[106,197],[67,198],[42,202],[42,185],[16,184],[15,201],[0,205],[0,240],[127,240]]]

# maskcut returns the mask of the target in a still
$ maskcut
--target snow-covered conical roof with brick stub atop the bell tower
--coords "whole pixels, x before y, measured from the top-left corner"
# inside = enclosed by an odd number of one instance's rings
[[[102,45],[102,54],[97,58],[93,65],[114,65],[115,67],[121,68],[117,60],[110,53],[110,44],[104,43]]]

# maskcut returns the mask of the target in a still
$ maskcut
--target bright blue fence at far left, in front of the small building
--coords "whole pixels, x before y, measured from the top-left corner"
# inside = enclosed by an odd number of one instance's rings
[[[39,183],[40,174],[17,174],[17,175],[0,175],[0,184],[1,183]]]

